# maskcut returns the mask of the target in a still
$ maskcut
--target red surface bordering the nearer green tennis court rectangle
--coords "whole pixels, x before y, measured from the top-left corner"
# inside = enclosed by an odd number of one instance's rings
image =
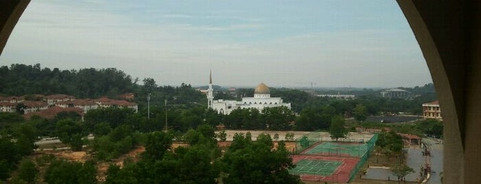
[[[359,158],[356,157],[325,157],[321,155],[308,155],[308,154],[297,154],[292,155],[292,163],[296,164],[301,160],[311,160],[311,161],[341,161],[334,172],[329,176],[319,176],[312,174],[300,174],[301,180],[303,181],[328,181],[328,182],[338,182],[338,183],[348,183],[351,171],[356,167],[356,163]]]

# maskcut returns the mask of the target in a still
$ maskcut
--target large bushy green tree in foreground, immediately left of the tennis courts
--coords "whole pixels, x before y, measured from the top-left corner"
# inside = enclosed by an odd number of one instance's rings
[[[247,135],[237,134],[232,145],[222,158],[223,183],[299,183],[299,176],[288,172],[294,165],[283,141],[273,150],[269,135],[250,141]]]

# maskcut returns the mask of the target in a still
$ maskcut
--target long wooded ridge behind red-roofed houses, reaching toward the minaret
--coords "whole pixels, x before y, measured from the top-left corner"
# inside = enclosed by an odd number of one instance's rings
[[[61,70],[42,68],[40,64],[14,64],[0,67],[1,95],[66,94],[77,98],[98,98],[102,96],[117,98],[124,93],[134,93],[135,102],[147,104],[147,94],[151,93],[153,104],[187,104],[204,102],[205,95],[195,91],[190,84],[180,87],[158,86],[153,78],[138,78],[115,68]]]

